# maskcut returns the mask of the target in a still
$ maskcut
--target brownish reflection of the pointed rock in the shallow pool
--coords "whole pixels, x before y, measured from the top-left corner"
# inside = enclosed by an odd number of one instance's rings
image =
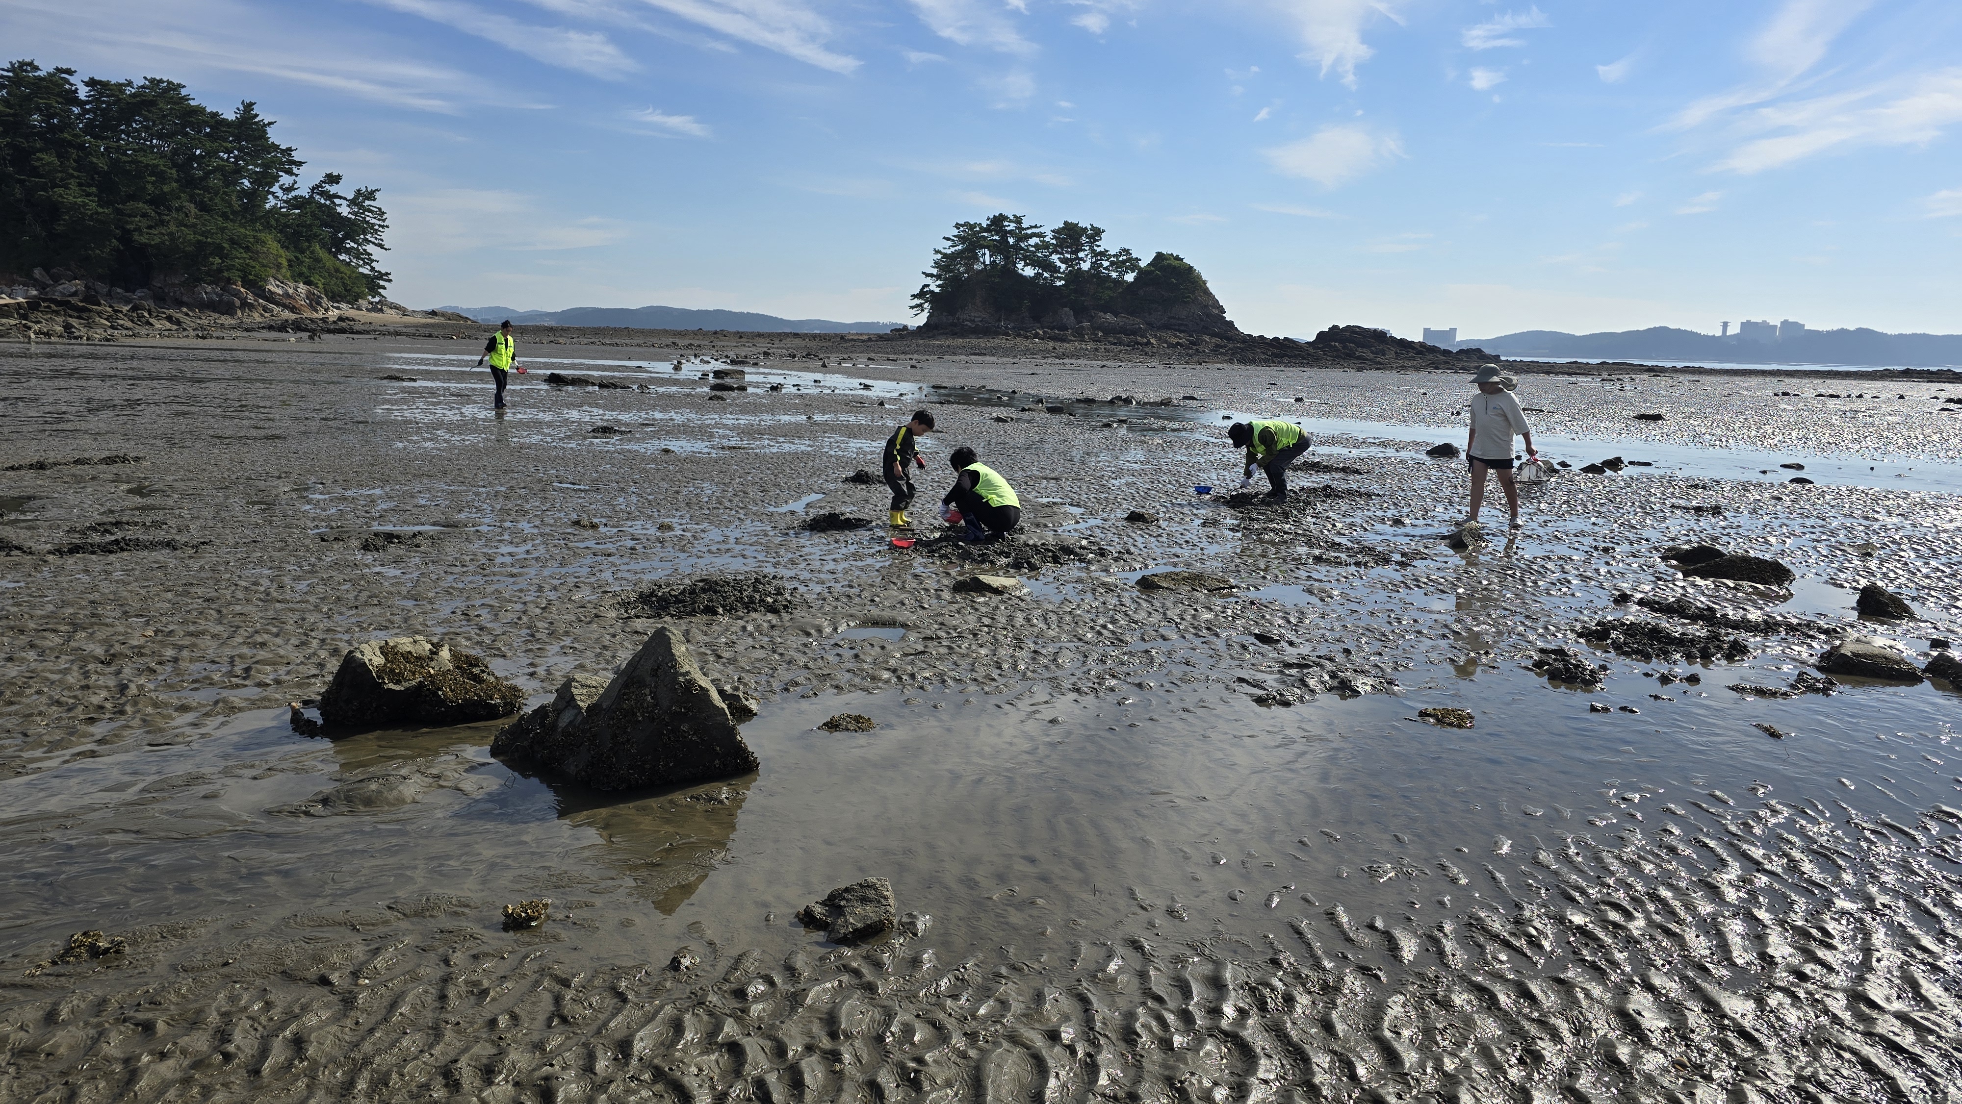
[[[553,784],[559,818],[600,841],[583,851],[634,878],[634,896],[673,916],[726,861],[736,814],[755,775],[620,800],[585,786]]]

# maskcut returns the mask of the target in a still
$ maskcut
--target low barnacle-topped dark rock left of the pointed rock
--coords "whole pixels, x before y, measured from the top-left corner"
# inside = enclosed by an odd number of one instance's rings
[[[524,690],[467,651],[426,637],[367,641],[345,657],[320,696],[326,729],[455,726],[506,718]]]

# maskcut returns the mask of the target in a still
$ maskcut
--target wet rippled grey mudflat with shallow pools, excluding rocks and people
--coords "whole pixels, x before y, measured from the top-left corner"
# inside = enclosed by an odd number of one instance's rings
[[[0,1098],[1950,1096],[1958,688],[1729,686],[1956,637],[1956,384],[1532,376],[1560,459],[1654,467],[1460,553],[1446,375],[830,353],[710,392],[675,349],[545,351],[632,386],[534,373],[496,420],[449,341],[0,347],[0,467],[141,457],[0,475]],[[1081,402],[1118,394],[1173,406]],[[1030,535],[808,531],[881,516],[846,477],[922,402],[922,498],[973,443]],[[1317,429],[1287,510],[1191,492],[1234,412]],[[1173,569],[1234,590],[1136,584]],[[622,800],[498,765],[496,724],[286,726],[402,633],[542,702],[704,573],[797,596],[673,622],[761,702],[759,775]],[[1856,622],[1866,582],[1915,618]],[[1597,651],[1607,618],[1748,659]],[[863,877],[914,914],[887,941],[795,922]],[[55,961],[82,929],[126,949]]]

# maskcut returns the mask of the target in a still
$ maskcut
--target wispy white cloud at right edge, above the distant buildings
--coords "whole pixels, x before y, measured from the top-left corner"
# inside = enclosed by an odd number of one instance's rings
[[[1962,67],[1915,78],[1893,88],[1893,100],[1870,108],[1856,106],[1882,94],[1866,88],[1793,104],[1758,108],[1738,125],[1750,131],[1783,131],[1742,141],[1713,169],[1752,175],[1780,169],[1834,149],[1862,145],[1927,145],[1942,129],[1962,124]]]

